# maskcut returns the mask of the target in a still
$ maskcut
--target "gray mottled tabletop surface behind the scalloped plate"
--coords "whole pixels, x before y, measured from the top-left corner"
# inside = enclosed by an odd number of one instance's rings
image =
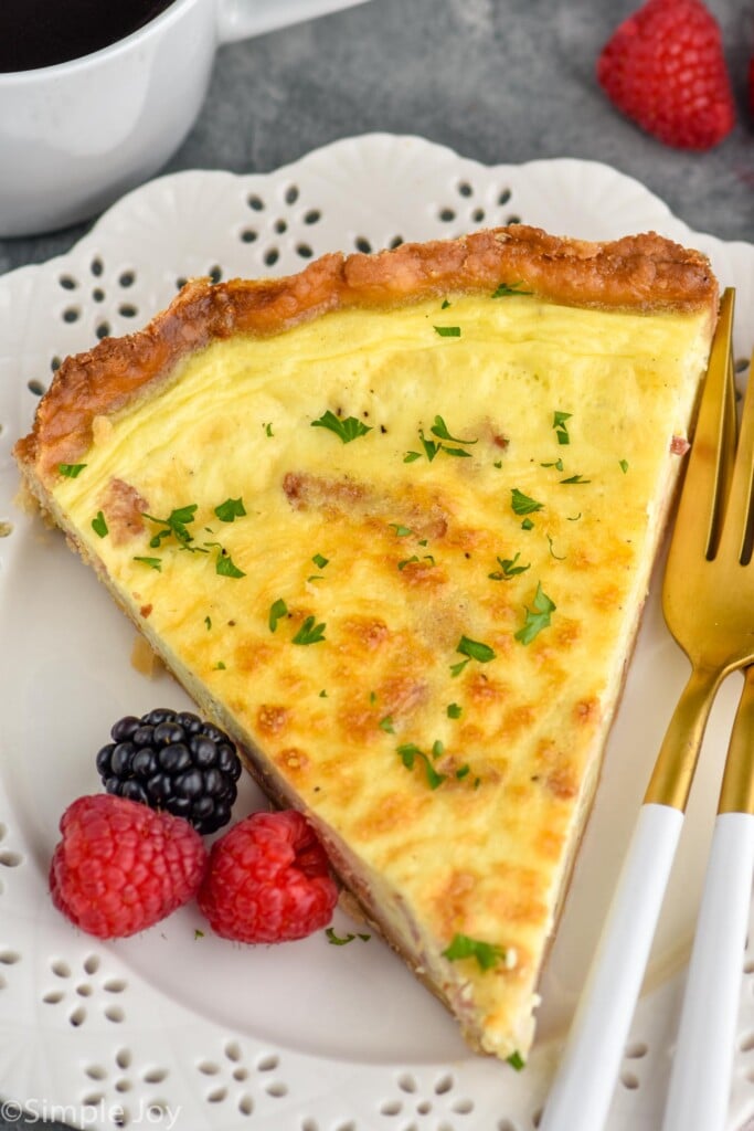
[[[622,119],[597,87],[599,49],[633,0],[371,0],[223,48],[203,111],[166,171],[267,172],[336,138],[418,133],[491,164],[560,156],[607,162],[693,228],[752,241],[746,68],[754,8],[745,0],[709,6],[722,27],[739,123],[708,154],[661,146]],[[0,273],[60,254],[85,231],[0,240]],[[26,1125],[34,1123],[0,1115],[0,1131]]]

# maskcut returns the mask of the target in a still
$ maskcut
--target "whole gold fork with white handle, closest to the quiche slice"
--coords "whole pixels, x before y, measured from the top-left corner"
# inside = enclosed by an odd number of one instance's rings
[[[754,391],[746,397],[736,457],[733,312],[727,290],[662,588],[668,628],[692,672],[657,758],[539,1131],[605,1125],[710,708],[725,676],[754,662],[754,569],[747,569]]]

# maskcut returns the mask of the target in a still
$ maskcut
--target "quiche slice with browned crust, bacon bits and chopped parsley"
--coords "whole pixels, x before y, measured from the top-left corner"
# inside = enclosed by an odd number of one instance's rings
[[[189,283],[15,454],[469,1043],[537,983],[718,307],[697,252],[525,226]]]

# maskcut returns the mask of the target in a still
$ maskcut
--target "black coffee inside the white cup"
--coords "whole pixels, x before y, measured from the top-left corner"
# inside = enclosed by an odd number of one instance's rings
[[[0,71],[79,59],[125,38],[173,0],[0,0]]]

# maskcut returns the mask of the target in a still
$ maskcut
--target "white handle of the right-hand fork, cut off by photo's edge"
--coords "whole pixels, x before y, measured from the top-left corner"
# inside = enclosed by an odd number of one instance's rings
[[[720,813],[688,965],[662,1131],[722,1131],[754,873],[754,817]]]

